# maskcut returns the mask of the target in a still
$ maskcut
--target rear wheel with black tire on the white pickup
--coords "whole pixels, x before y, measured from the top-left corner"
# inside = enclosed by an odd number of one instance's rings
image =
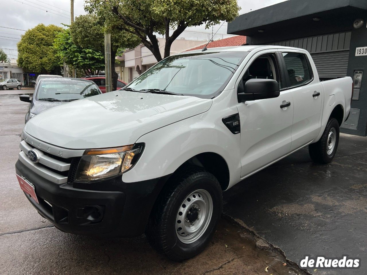
[[[325,131],[320,140],[308,146],[308,151],[313,162],[327,164],[337,153],[339,144],[339,122],[331,117],[326,124]]]

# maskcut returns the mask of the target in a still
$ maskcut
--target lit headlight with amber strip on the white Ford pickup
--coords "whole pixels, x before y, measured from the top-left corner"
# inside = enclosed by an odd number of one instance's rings
[[[89,182],[113,177],[130,169],[139,158],[144,144],[84,151],[74,181]]]

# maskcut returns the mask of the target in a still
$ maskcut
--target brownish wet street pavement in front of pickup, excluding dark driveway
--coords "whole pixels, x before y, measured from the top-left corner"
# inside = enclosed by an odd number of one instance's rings
[[[17,96],[0,96],[1,275],[304,274],[292,263],[284,266],[281,253],[225,219],[207,249],[182,263],[157,253],[145,236],[99,239],[57,230],[30,205],[14,175],[27,106]]]

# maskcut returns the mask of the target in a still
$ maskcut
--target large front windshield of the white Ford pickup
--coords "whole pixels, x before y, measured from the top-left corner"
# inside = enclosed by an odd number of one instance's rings
[[[223,91],[247,54],[231,51],[170,56],[132,81],[128,88],[213,98]]]

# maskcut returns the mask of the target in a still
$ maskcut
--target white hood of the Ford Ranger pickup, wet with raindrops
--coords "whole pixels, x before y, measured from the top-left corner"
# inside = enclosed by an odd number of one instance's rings
[[[24,131],[70,149],[133,144],[142,135],[209,110],[211,99],[115,91],[62,104],[36,115]]]

